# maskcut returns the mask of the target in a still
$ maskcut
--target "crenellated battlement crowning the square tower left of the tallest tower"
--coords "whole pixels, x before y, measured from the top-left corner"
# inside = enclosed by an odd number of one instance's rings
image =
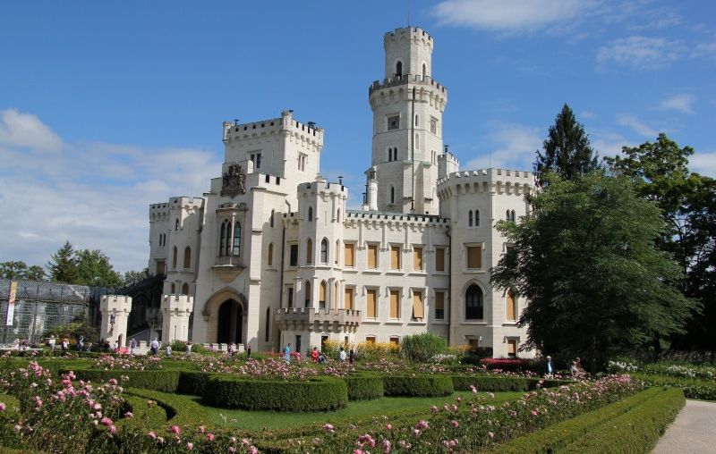
[[[223,140],[253,139],[256,136],[271,133],[290,132],[303,136],[304,139],[323,143],[323,128],[314,122],[302,123],[294,120],[293,111],[286,110],[278,118],[270,118],[259,122],[239,123],[224,122]]]

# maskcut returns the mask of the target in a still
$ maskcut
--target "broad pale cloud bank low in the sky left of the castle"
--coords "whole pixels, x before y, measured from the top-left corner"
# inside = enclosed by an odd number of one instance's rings
[[[149,204],[201,194],[221,172],[223,156],[207,150],[67,144],[36,116],[19,115],[59,147],[47,154],[47,140],[0,144],[0,162],[13,163],[0,168],[0,261],[45,265],[70,240],[102,249],[118,271],[144,268]]]

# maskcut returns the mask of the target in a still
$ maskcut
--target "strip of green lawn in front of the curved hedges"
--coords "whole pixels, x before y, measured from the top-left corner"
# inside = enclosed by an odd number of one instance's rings
[[[481,393],[483,396],[484,393]],[[524,392],[496,392],[495,399],[490,399],[490,403],[501,404],[506,400],[517,399],[524,395]],[[457,396],[463,399],[471,399],[473,393],[471,391],[456,391],[451,396],[442,398],[410,398],[410,397],[385,397],[373,400],[352,400],[348,402],[346,408],[330,412],[311,412],[311,413],[283,413],[275,411],[248,411],[248,410],[230,410],[226,408],[212,408],[202,406],[202,408],[213,417],[211,421],[207,421],[208,425],[223,425],[226,427],[241,427],[243,429],[261,430],[268,429],[284,429],[307,424],[325,424],[336,423],[339,421],[349,422],[355,416],[366,415],[387,415],[406,410],[424,409],[425,414],[430,414],[430,407],[436,405],[442,407],[443,404],[451,404]],[[200,397],[189,397],[197,403],[200,403]]]

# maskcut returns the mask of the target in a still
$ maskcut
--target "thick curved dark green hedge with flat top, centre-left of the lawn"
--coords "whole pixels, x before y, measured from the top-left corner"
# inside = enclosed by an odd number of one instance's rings
[[[203,401],[219,408],[335,410],[348,403],[348,387],[345,381],[328,377],[305,382],[279,382],[212,375],[204,391]]]

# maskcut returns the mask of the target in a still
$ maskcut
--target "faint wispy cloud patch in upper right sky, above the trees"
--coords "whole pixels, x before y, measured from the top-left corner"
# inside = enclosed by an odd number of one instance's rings
[[[637,70],[655,70],[673,63],[686,52],[680,41],[666,38],[618,38],[597,50],[601,68],[611,64],[629,66]]]

